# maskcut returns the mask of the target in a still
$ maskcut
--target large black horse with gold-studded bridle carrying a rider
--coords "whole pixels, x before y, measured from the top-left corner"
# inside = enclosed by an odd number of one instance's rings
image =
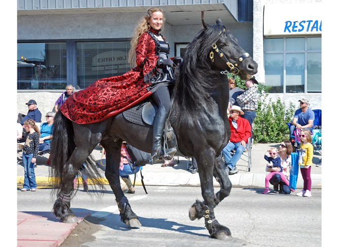
[[[197,200],[189,210],[190,220],[205,217],[211,237],[230,239],[230,230],[215,219],[214,208],[231,192],[221,150],[230,138],[227,119],[227,73],[245,79],[257,72],[256,62],[237,43],[237,39],[218,18],[213,26],[203,21],[204,28],[188,45],[183,62],[175,72],[171,126],[175,131],[179,153],[195,157],[198,162],[204,201]],[[129,227],[141,226],[131,209],[119,180],[120,151],[123,141],[138,149],[151,151],[152,128],[128,122],[123,114],[96,123],[79,125],[60,111],[55,116],[51,147],[52,176],[56,178],[54,213],[62,222],[75,222],[70,209],[72,181],[87,159],[89,176],[96,175],[89,156],[100,143],[106,150],[105,176],[116,196],[120,216]],[[213,177],[220,190],[214,193]],[[94,180],[96,183],[97,180]],[[56,197],[55,197],[56,198]]]

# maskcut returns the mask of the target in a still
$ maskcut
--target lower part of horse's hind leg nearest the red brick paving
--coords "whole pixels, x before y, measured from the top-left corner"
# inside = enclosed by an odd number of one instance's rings
[[[55,216],[60,218],[64,223],[78,222],[74,212],[70,209],[70,199],[73,191],[72,181],[89,154],[89,149],[75,148],[70,158],[63,165],[63,178],[60,182],[60,192],[53,209]]]

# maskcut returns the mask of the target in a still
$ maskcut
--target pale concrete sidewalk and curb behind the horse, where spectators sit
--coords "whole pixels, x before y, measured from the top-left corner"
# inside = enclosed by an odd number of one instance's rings
[[[265,175],[265,165],[266,161],[263,156],[269,147],[278,147],[278,143],[258,143],[254,144],[251,150],[252,167],[250,172],[248,172],[247,160],[248,153],[243,153],[241,159],[237,163],[237,168],[239,172],[235,175],[230,175],[230,180],[233,187],[249,187],[249,188],[264,188]],[[102,177],[105,184],[107,180],[105,179],[105,157],[101,153],[101,148],[98,146],[92,152],[95,159],[97,160],[97,165],[99,170],[101,170]],[[147,164],[142,169],[143,181],[145,185],[151,186],[200,186],[200,179],[198,174],[192,174],[187,170],[187,159],[184,157],[176,157],[179,159],[178,164],[174,167],[161,167],[162,163],[155,163],[153,165]],[[315,152],[313,163],[316,164],[321,158],[318,152]],[[18,158],[19,159],[19,158]],[[48,158],[38,156],[37,157],[37,168],[35,168],[36,182],[39,186],[49,185],[49,166],[46,166]],[[18,165],[17,171],[17,183],[18,187],[22,187],[24,181],[24,169],[21,165]],[[322,188],[322,171],[321,167],[312,167],[311,178],[312,178],[312,188],[321,189]],[[132,181],[134,175],[130,175]],[[297,188],[302,188],[303,180],[301,174],[299,173]],[[140,174],[137,173],[136,185],[141,185]],[[219,187],[219,183],[214,180],[213,185]]]

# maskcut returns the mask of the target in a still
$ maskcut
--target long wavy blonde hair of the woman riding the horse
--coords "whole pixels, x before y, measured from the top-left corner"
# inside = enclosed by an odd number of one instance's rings
[[[136,66],[136,47],[138,44],[138,39],[144,32],[150,29],[149,20],[151,18],[151,15],[153,15],[153,13],[155,12],[161,12],[163,14],[163,23],[165,22],[163,10],[161,10],[159,7],[152,7],[148,9],[146,14],[138,22],[138,25],[132,35],[131,47],[129,51],[129,64],[131,65],[131,67]]]

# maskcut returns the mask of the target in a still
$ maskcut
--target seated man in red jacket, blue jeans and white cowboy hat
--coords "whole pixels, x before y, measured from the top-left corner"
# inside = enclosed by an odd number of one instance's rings
[[[248,138],[251,137],[251,126],[247,119],[240,116],[244,114],[241,107],[233,105],[228,113],[230,113],[228,121],[230,122],[231,137],[222,153],[227,166],[225,171],[227,175],[233,175],[238,173],[236,163],[247,146]],[[234,155],[231,154],[232,150],[236,150]]]

